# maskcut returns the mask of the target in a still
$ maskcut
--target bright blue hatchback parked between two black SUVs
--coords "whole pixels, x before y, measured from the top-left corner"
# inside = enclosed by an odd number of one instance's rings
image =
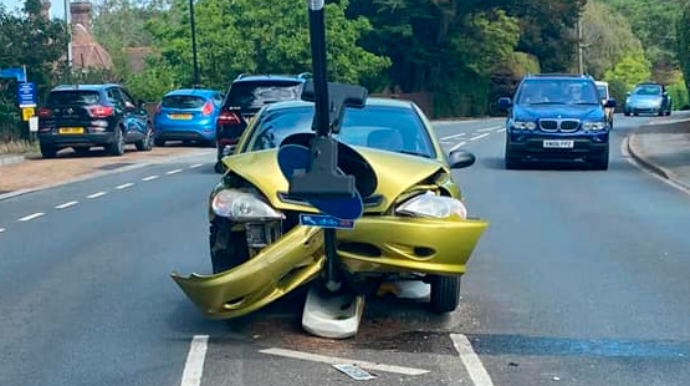
[[[167,93],[153,118],[156,146],[166,141],[214,145],[223,94],[215,90],[181,89]]]

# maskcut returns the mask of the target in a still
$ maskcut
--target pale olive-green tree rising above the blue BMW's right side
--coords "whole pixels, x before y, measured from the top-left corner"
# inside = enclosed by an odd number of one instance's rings
[[[606,4],[588,3],[582,24],[585,70],[597,79],[603,78],[625,56],[643,52],[628,20]]]

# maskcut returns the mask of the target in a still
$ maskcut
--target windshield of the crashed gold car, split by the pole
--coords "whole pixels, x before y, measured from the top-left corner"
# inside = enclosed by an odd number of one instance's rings
[[[310,133],[313,117],[312,107],[267,112],[259,118],[246,149],[273,149],[292,134]],[[429,133],[412,108],[368,106],[348,109],[336,137],[351,146],[435,157]]]

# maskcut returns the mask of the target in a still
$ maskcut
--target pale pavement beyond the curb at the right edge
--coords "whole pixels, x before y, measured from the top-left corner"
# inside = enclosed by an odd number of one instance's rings
[[[630,136],[630,154],[653,173],[690,189],[690,113],[656,120]]]

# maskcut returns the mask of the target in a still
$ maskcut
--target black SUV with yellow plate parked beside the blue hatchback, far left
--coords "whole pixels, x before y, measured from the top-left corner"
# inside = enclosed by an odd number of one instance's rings
[[[143,102],[135,102],[116,84],[58,86],[38,117],[43,158],[53,158],[67,147],[86,154],[91,147],[103,146],[115,156],[124,154],[126,143],[139,151],[153,147],[153,126]]]

